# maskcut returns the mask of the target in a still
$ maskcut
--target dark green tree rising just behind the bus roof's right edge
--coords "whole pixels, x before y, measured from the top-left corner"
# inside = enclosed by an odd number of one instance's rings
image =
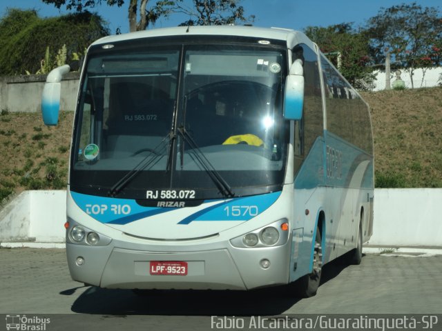
[[[352,23],[327,28],[309,26],[304,32],[352,86],[367,90],[372,85],[374,75],[368,39],[363,32],[354,30]]]

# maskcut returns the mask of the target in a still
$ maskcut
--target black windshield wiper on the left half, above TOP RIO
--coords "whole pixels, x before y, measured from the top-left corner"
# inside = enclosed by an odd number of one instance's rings
[[[162,157],[164,157],[164,154],[160,153],[164,148],[166,148],[167,144],[173,139],[173,134],[170,132],[166,135],[160,141],[160,143],[155,146],[153,149],[146,149],[149,151],[149,153],[142,159],[137,165],[135,165],[135,168],[133,168],[131,171],[129,171],[127,174],[122,177],[122,179],[119,179],[117,183],[115,183],[112,188],[108,191],[108,195],[110,197],[115,197],[132,179],[137,176],[142,170],[146,169],[149,165],[155,165]]]

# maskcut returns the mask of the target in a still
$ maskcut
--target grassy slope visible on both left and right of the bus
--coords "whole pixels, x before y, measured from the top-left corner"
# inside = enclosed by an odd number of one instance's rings
[[[442,188],[442,87],[361,93],[374,131],[376,187]],[[22,190],[66,187],[73,112],[46,127],[0,112],[0,203]]]

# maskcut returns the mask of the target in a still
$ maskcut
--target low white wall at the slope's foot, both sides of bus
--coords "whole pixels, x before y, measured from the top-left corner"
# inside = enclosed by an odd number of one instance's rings
[[[442,189],[376,189],[369,245],[442,246]],[[26,191],[0,211],[0,242],[63,242],[66,191]]]

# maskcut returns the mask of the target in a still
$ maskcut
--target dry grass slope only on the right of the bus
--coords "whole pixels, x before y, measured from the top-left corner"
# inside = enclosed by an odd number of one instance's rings
[[[442,87],[364,92],[376,187],[442,188]]]

